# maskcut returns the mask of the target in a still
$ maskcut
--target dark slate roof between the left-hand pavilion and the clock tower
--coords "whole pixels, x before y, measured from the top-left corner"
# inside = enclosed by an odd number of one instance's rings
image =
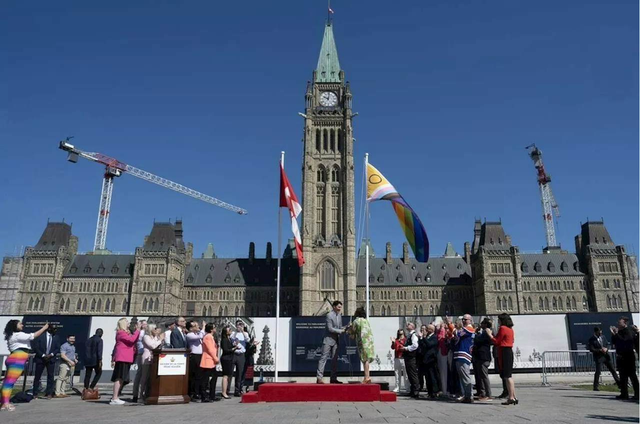
[[[300,286],[300,268],[295,258],[283,258],[280,285]],[[184,271],[185,287],[273,287],[276,283],[278,261],[266,258],[249,260],[225,258],[197,258]]]

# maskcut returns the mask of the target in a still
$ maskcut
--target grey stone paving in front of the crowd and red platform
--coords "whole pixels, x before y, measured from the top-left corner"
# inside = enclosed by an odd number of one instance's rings
[[[497,389],[497,388],[496,388]],[[238,398],[209,404],[111,406],[108,391],[102,399],[83,402],[74,395],[64,399],[38,399],[19,404],[14,412],[0,412],[0,423],[92,424],[119,423],[234,423],[234,424],[336,424],[336,423],[639,423],[637,402],[616,400],[616,393],[572,389],[516,388],[520,404],[502,406],[476,402],[471,405],[447,400],[398,402],[308,402],[294,404],[240,404]],[[123,400],[131,399],[125,391]]]

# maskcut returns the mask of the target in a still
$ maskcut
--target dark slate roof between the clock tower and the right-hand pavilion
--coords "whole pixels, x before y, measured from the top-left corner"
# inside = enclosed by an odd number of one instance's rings
[[[366,285],[366,259],[356,260],[356,285]],[[410,259],[404,264],[401,258],[393,258],[387,264],[385,258],[369,259],[369,280],[371,287],[387,287],[401,285],[454,285],[471,284],[471,268],[461,257],[429,258],[429,262],[417,262]]]

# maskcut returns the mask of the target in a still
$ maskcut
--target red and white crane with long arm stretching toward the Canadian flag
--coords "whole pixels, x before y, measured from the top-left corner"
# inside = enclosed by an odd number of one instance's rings
[[[124,162],[120,162],[113,157],[103,155],[102,153],[83,152],[76,146],[69,143],[69,140],[73,137],[67,137],[67,139],[60,141],[60,148],[67,152],[67,161],[76,163],[78,157],[84,157],[93,162],[98,162],[105,166],[104,179],[102,180],[102,192],[100,194],[100,209],[98,211],[98,223],[95,227],[95,241],[93,242],[93,250],[104,250],[107,240],[107,226],[109,224],[109,210],[111,209],[111,195],[113,194],[113,178],[120,177],[123,173],[129,173],[134,177],[142,178],[148,182],[152,182],[157,185],[162,185],[168,189],[175,190],[182,194],[194,197],[196,199],[206,201],[212,205],[219,206],[238,214],[246,214],[246,210],[234,205],[230,205],[224,201],[212,198],[201,192],[184,187],[182,184],[167,180],[166,178],[158,177],[150,172],[143,171],[142,169],[135,168],[131,165],[127,165]]]

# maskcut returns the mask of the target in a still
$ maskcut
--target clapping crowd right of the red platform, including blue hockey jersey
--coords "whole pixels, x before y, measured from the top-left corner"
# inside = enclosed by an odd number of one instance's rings
[[[474,400],[492,402],[489,366],[495,357],[503,387],[497,398],[505,401],[503,405],[517,405],[512,378],[513,320],[507,313],[499,315],[498,320],[495,336],[490,318],[474,324],[468,314],[455,323],[445,317],[438,324],[421,326],[419,333],[413,322],[407,322],[406,329],[399,329],[391,338],[395,352],[394,391],[404,388],[412,398],[419,398],[420,392],[426,391],[429,398],[450,397],[465,404]]]

